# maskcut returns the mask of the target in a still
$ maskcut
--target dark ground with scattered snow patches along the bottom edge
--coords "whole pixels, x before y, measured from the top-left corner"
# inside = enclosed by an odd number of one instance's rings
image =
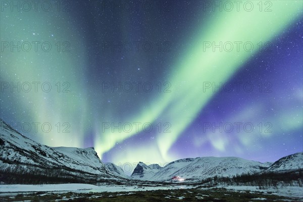
[[[103,192],[103,193],[54,193],[35,192],[3,196],[0,201],[302,201],[301,198],[290,198],[269,193],[230,191],[226,189],[174,189],[137,192]]]

